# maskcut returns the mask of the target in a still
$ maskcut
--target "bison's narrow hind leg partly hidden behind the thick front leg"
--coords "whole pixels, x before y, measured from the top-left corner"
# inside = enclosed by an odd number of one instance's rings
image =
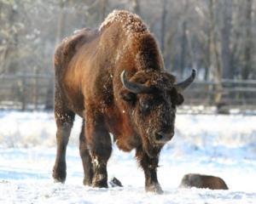
[[[93,167],[92,167],[91,157],[90,157],[90,153],[88,150],[88,146],[87,146],[86,138],[84,134],[84,120],[83,120],[79,141],[80,141],[79,143],[80,156],[81,156],[83,167],[84,167],[84,185],[91,185],[92,178],[93,178]]]

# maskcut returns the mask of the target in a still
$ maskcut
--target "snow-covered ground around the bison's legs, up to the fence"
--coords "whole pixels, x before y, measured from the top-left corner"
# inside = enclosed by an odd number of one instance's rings
[[[113,146],[109,178],[123,188],[84,187],[76,119],[67,150],[66,184],[55,184],[52,113],[0,112],[0,203],[256,203],[256,116],[177,115],[176,134],[160,156],[164,195],[145,193],[134,152]],[[185,173],[224,178],[230,190],[180,189]]]

